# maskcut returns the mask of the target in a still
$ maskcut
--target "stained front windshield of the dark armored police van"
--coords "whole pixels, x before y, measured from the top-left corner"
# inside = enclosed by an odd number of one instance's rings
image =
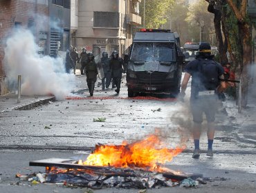
[[[176,61],[174,43],[134,43],[131,61]]]

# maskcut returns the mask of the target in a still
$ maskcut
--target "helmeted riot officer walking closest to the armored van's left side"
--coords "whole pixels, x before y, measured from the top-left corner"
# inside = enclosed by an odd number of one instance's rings
[[[111,59],[109,61],[109,68],[111,70],[111,75],[113,77],[113,81],[116,84],[116,94],[120,92],[120,85],[122,79],[123,68],[125,68],[125,64],[122,58],[119,57],[118,52],[115,50],[111,54]]]

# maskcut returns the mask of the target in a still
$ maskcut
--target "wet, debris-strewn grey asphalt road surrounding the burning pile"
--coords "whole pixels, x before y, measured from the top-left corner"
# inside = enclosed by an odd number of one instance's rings
[[[46,158],[85,158],[98,144],[120,144],[135,141],[153,133],[156,128],[164,136],[168,148],[186,145],[167,167],[173,170],[201,173],[212,182],[199,188],[170,187],[148,192],[255,192],[255,145],[241,143],[232,135],[237,128],[229,119],[217,116],[214,158],[207,159],[207,139],[201,137],[203,154],[191,158],[191,117],[188,103],[167,96],[127,98],[125,82],[120,95],[114,90],[95,88],[93,97],[86,89],[85,77],[77,76],[74,94],[67,100],[41,105],[32,110],[12,110],[0,114],[0,192],[84,192],[62,185],[33,185],[15,179],[15,174],[44,171],[28,167],[29,161]],[[105,122],[93,119],[106,118]],[[220,179],[223,178],[223,179]],[[138,190],[105,189],[95,192],[138,192]]]

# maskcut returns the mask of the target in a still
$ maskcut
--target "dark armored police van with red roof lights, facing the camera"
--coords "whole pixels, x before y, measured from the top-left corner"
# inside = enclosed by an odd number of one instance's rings
[[[176,32],[147,29],[136,32],[125,54],[128,96],[138,93],[176,96],[181,86],[183,60]]]

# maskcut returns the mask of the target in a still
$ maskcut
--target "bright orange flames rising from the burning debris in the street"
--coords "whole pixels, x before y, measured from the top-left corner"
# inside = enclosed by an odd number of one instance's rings
[[[143,167],[148,170],[161,170],[159,164],[172,161],[185,147],[166,148],[161,137],[150,134],[145,139],[134,143],[124,141],[122,145],[96,145],[84,165],[113,167]]]

